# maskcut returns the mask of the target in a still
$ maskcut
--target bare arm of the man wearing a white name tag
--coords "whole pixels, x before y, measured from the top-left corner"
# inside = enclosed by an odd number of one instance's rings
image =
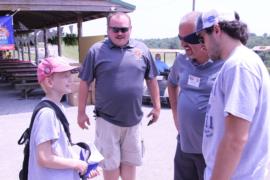
[[[170,105],[173,113],[174,125],[179,132],[179,121],[177,118],[177,98],[179,94],[180,88],[179,86],[173,85],[168,81],[168,93],[170,99]]]

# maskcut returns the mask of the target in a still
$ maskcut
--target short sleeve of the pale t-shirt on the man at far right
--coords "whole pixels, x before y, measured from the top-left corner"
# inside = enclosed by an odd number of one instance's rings
[[[224,113],[252,121],[258,102],[260,80],[249,70],[235,66],[222,77]]]

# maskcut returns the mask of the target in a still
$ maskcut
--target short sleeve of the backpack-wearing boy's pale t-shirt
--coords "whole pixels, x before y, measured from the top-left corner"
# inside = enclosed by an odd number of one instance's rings
[[[50,108],[42,108],[35,119],[35,143],[37,145],[49,140],[59,138],[60,121],[56,118],[55,112]]]

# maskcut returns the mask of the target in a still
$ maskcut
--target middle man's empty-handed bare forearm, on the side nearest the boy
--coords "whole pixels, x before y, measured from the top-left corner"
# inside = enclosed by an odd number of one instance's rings
[[[86,81],[81,80],[80,86],[79,86],[79,102],[78,102],[77,122],[78,122],[78,125],[82,129],[88,129],[87,124],[90,125],[89,117],[87,116],[87,114],[85,112],[87,98],[88,98],[88,90],[89,90],[88,83]]]

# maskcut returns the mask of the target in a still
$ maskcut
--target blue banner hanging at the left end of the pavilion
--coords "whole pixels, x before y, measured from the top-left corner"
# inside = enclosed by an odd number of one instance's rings
[[[0,16],[0,50],[14,50],[12,16]]]

